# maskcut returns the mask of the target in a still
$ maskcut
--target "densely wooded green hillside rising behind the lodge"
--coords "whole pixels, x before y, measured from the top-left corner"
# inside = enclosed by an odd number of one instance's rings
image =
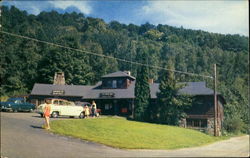
[[[2,31],[24,35],[63,46],[140,62],[140,51],[149,54],[149,65],[162,66],[171,59],[175,69],[212,75],[218,64],[219,90],[229,106],[248,110],[248,41],[240,35],[222,35],[168,25],[141,26],[105,23],[83,14],[55,11],[29,15],[15,7],[2,6]],[[228,26],[230,27],[230,26]],[[100,76],[136,65],[71,51],[1,33],[1,94],[29,93],[34,83],[52,83],[63,71],[67,84],[94,84]],[[149,68],[150,78],[160,70]],[[176,74],[178,81],[204,81],[201,77]]]

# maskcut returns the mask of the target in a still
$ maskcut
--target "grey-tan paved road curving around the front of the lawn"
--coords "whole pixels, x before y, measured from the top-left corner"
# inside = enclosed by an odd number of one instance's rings
[[[178,150],[122,150],[51,134],[36,113],[1,112],[1,158],[247,157],[249,136]]]

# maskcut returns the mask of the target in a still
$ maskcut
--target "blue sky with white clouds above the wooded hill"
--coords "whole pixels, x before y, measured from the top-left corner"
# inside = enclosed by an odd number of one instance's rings
[[[221,34],[249,36],[248,0],[64,0],[4,1],[29,14],[56,10],[141,25],[149,22]]]

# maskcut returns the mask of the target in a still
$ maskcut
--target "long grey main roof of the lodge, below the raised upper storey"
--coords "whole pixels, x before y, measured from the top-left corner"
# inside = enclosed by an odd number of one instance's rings
[[[82,99],[133,99],[135,81],[127,89],[101,89],[102,82],[98,82],[94,86],[82,85],[52,85],[52,84],[38,84],[36,83],[32,89],[31,95],[53,96],[53,91],[64,91],[58,96],[75,96],[82,97]],[[188,95],[213,95],[213,90],[206,87],[205,82],[185,82],[179,94]],[[157,98],[159,92],[159,83],[149,84],[150,94],[152,99]],[[112,97],[100,97],[102,94],[112,94]],[[222,96],[221,96],[222,97]]]

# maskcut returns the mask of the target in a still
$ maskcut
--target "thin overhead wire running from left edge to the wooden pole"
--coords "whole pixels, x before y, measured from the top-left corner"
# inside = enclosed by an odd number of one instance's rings
[[[103,54],[97,54],[97,53],[89,52],[89,51],[86,51],[86,50],[81,50],[81,49],[77,49],[77,48],[63,46],[63,45],[60,45],[60,44],[55,44],[55,43],[51,43],[51,42],[47,42],[47,41],[42,41],[42,40],[38,40],[38,39],[35,39],[35,38],[22,36],[22,35],[6,32],[6,31],[0,31],[0,32],[3,33],[3,34],[10,35],[10,36],[23,38],[23,39],[28,39],[28,40],[32,40],[32,41],[39,42],[39,43],[45,43],[45,44],[60,47],[60,48],[65,48],[65,49],[69,49],[69,50],[83,52],[83,53],[86,53],[86,54],[91,54],[91,55],[95,55],[95,56],[99,56],[99,57],[105,57],[105,58],[109,58],[109,59],[116,59],[116,60],[121,61],[121,62],[131,63],[131,64],[135,64],[135,65],[140,65],[140,66],[146,66],[146,67],[150,67],[150,68],[154,68],[154,69],[172,71],[172,72],[175,72],[175,73],[181,73],[181,74],[186,74],[186,75],[200,76],[200,77],[205,77],[205,78],[213,78],[212,76],[200,75],[200,74],[196,74],[196,73],[184,72],[184,71],[178,71],[178,70],[171,70],[171,69],[167,69],[167,68],[160,67],[160,66],[148,65],[148,64],[143,64],[143,63],[134,62],[134,61],[128,61],[128,60],[125,60],[125,59],[120,59],[120,58],[116,58],[116,57],[112,57],[112,56],[107,56],[107,55],[103,55]]]

